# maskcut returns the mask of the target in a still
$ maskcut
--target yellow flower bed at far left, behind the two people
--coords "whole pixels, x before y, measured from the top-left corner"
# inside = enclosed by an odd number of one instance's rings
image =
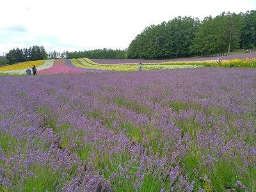
[[[26,68],[32,68],[34,65],[36,67],[39,67],[44,63],[45,60],[39,60],[39,61],[26,61],[23,63],[17,63],[13,65],[8,65],[4,67],[0,67],[0,71],[8,71],[8,70],[19,70],[19,69],[26,69]]]

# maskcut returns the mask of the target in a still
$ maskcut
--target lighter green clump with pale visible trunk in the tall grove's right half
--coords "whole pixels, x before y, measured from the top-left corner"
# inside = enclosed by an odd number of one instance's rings
[[[243,19],[236,13],[222,13],[214,19],[205,17],[189,47],[190,52],[201,56],[229,54],[230,50],[239,47],[242,27]]]

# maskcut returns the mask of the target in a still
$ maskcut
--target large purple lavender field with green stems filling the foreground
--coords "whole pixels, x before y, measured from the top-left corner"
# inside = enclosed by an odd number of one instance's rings
[[[0,85],[0,191],[256,190],[255,68]]]

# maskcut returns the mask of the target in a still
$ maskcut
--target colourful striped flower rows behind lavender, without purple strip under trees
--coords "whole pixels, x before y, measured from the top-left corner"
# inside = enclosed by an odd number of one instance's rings
[[[138,64],[99,64],[88,58],[71,59],[71,60],[40,60],[27,61],[0,67],[2,74],[26,74],[26,68],[36,66],[38,74],[57,74],[57,73],[72,73],[72,72],[102,72],[102,71],[136,71]],[[182,67],[181,67],[182,66]],[[144,63],[143,70],[162,70],[174,68],[196,68],[196,67],[256,67],[256,58],[247,58],[246,60],[234,59],[223,60],[221,63],[216,63],[215,60],[209,61],[177,61],[166,63]]]

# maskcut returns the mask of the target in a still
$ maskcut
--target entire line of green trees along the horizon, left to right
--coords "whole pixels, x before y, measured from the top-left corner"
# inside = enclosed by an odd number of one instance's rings
[[[223,12],[204,20],[175,17],[168,22],[145,28],[127,49],[97,49],[92,51],[46,52],[43,46],[12,49],[0,65],[47,58],[140,58],[162,60],[189,56],[229,54],[236,49],[256,47],[256,11]]]

